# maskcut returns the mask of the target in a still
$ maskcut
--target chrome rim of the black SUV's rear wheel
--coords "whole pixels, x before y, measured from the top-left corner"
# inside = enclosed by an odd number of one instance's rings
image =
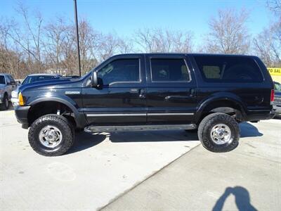
[[[230,128],[226,124],[216,124],[211,129],[211,140],[218,145],[230,143],[232,141]]]

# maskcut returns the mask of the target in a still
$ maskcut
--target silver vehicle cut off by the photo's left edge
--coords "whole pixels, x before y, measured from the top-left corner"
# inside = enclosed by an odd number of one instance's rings
[[[17,89],[17,84],[10,74],[0,73],[0,108],[7,110],[9,101],[11,99],[11,93]]]

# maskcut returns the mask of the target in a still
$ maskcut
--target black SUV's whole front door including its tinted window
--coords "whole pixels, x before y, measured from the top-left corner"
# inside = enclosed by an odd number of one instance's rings
[[[115,56],[98,68],[100,89],[84,87],[84,113],[89,124],[145,124],[144,56]]]

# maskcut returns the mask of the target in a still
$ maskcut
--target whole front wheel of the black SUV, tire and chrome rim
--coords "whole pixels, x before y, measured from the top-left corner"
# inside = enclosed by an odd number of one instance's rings
[[[44,115],[33,122],[28,139],[40,155],[63,155],[74,143],[74,129],[65,117]]]

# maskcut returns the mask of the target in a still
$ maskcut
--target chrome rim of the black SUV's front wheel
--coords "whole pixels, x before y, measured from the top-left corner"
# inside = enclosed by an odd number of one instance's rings
[[[55,148],[60,144],[63,135],[58,127],[47,125],[39,132],[39,141],[47,148]]]

